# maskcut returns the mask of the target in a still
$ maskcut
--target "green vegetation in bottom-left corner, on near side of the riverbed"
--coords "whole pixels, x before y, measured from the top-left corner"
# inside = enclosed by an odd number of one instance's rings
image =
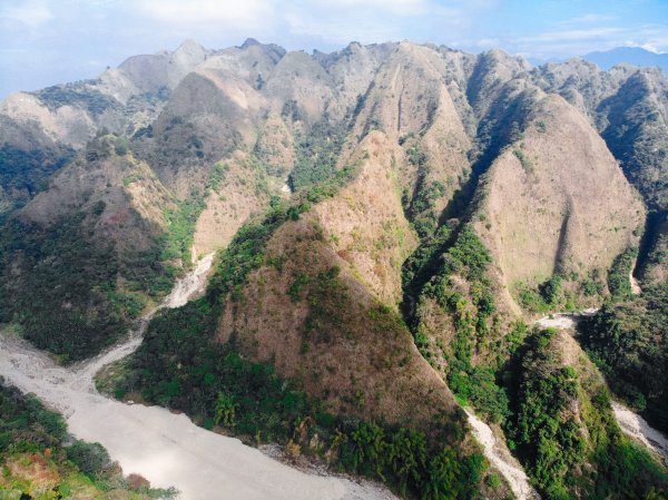
[[[0,383],[0,494],[59,499],[77,493],[105,500],[171,499],[176,490],[132,486],[99,443],[75,440],[63,419],[32,395]]]

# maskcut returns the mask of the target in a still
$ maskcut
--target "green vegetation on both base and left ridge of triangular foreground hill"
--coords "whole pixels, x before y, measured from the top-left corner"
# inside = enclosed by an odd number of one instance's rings
[[[305,190],[295,204],[274,199],[264,219],[245,224],[220,255],[206,295],[154,318],[111,392],[119,398],[140,392],[146,401],[185,411],[205,428],[217,427],[247,441],[284,443],[293,457],[320,455],[341,470],[384,481],[406,498],[475,498],[485,462],[481,455],[443,445],[455,430],[434,424],[428,439],[407,427],[338,419],[320,400],[305,395],[297,380],[282,380],[271,364],[244,359],[234,335],[225,344],[215,340],[225,298],[233,304],[242,300],[253,269],[283,265],[265,255],[272,234],[312,203],[333,196],[355,171],[351,167],[337,173]],[[337,276],[336,267],[294,276],[293,300],[301,300],[307,288],[304,335],[322,335],[322,324],[340,311],[330,310],[344,293]]]

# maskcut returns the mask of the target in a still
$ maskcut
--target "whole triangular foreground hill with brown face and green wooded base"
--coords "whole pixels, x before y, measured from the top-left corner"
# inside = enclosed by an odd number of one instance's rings
[[[206,297],[151,323],[117,388],[407,497],[471,498],[485,464],[463,415],[400,316],[336,255],[310,212],[316,193],[336,197],[354,177],[346,169],[245,225]]]

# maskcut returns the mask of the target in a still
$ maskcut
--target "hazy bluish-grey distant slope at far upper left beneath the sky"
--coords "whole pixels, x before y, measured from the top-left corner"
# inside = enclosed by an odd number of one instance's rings
[[[130,58],[95,80],[17,92],[0,102],[0,212],[28,203],[98,131],[131,136],[149,126],[208,52],[186,42],[175,52]]]

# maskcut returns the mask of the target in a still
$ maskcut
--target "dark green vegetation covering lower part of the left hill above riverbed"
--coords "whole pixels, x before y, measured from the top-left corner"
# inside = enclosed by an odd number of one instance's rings
[[[12,218],[1,232],[0,322],[18,321],[27,339],[63,361],[112,343],[144,308],[146,295],[170,286],[157,246],[120,255],[110,243],[90,241],[102,210],[100,202],[47,228]]]

